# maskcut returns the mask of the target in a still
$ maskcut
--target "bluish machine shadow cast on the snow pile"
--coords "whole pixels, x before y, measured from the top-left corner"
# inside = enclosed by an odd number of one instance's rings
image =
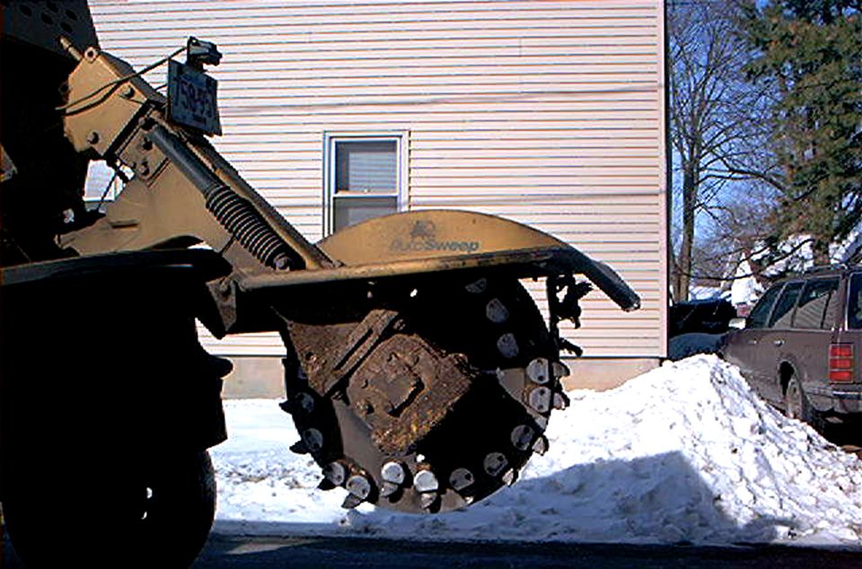
[[[740,525],[680,452],[636,460],[578,464],[526,478],[460,512],[413,516],[375,509],[344,524],[220,520],[221,535],[611,542],[653,544],[770,543],[796,530],[770,516]]]

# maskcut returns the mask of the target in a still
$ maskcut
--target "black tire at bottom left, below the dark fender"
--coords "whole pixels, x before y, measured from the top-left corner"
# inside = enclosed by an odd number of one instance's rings
[[[191,565],[216,513],[207,451],[149,460],[143,468],[125,460],[87,468],[92,466],[54,464],[51,477],[42,472],[15,477],[4,499],[4,518],[26,566],[66,566],[76,557],[88,567]],[[87,476],[69,472],[75,469]]]

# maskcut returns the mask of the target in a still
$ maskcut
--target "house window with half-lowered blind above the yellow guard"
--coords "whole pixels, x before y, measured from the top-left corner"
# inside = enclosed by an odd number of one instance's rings
[[[400,210],[402,136],[326,138],[327,234]]]

